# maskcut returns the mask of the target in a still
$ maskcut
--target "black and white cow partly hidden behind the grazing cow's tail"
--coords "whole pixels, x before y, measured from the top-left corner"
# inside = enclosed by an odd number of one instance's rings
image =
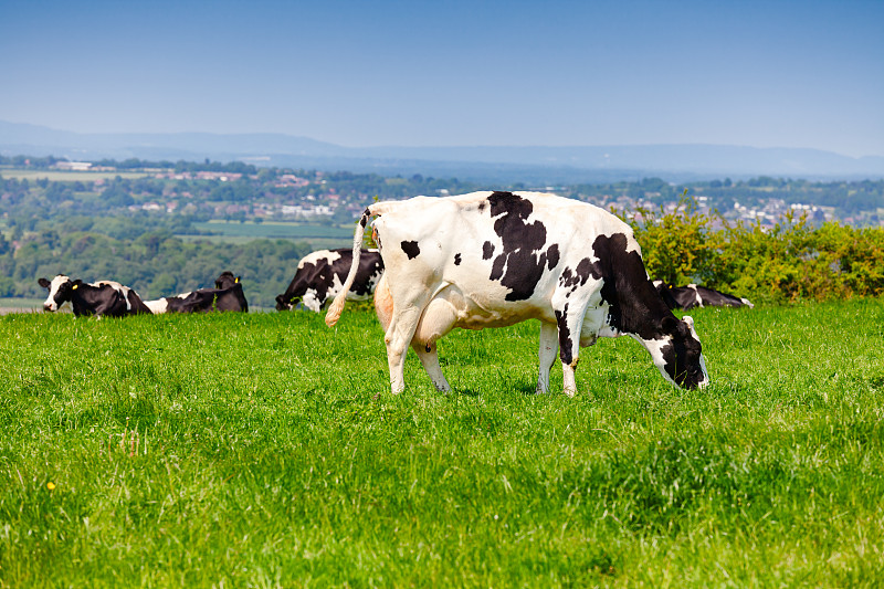
[[[305,255],[298,262],[288,288],[276,296],[276,311],[291,311],[301,302],[308,309],[319,313],[325,302],[340,292],[352,260],[352,250],[348,249],[319,250]],[[383,260],[378,251],[359,249],[356,276],[347,293],[347,301],[369,298],[382,273]]]

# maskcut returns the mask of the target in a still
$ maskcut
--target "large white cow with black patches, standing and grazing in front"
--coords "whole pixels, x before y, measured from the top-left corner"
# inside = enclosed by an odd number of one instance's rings
[[[451,390],[436,340],[454,327],[540,320],[537,391],[549,388],[559,350],[564,389],[576,390],[580,346],[628,335],[666,380],[685,388],[709,378],[691,317],[677,319],[651,284],[628,224],[598,207],[555,194],[473,192],[377,202],[356,230],[354,263],[328,309],[335,325],[356,275],[369,218],[386,267],[375,293],[393,392],[404,389],[411,345],[436,389]]]

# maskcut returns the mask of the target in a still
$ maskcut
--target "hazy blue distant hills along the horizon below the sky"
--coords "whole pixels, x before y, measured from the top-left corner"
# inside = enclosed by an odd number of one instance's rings
[[[80,134],[2,120],[0,154],[51,155],[72,160],[209,158],[259,166],[532,183],[635,180],[646,176],[671,181],[755,176],[884,178],[884,157],[852,158],[817,149],[719,145],[352,148],[283,134]]]

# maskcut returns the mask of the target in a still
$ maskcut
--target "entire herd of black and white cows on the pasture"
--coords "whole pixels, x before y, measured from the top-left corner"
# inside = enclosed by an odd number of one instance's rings
[[[368,221],[377,250],[361,246]],[[240,277],[223,272],[213,288],[143,301],[117,282],[84,283],[57,275],[40,278],[43,304],[75,315],[248,312]],[[613,214],[555,194],[472,192],[376,202],[359,221],[352,250],[305,256],[276,308],[298,305],[338,320],[346,301],[375,298],[385,332],[390,385],[404,389],[411,347],[440,391],[451,390],[439,365],[436,341],[455,327],[503,327],[540,320],[537,391],[561,360],[564,389],[576,392],[580,347],[598,337],[628,335],[644,346],[661,375],[684,388],[704,387],[699,337],[690,316],[673,308],[749,306],[746,298],[690,284],[651,281],[631,228]]]

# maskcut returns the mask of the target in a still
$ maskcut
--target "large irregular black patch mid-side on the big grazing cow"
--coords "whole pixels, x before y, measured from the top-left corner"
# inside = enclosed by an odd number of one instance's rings
[[[530,298],[547,264],[547,253],[541,251],[546,245],[546,227],[540,221],[528,222],[534,204],[517,194],[494,192],[488,203],[492,218],[496,218],[494,232],[503,242],[490,278],[511,290],[506,301]]]

